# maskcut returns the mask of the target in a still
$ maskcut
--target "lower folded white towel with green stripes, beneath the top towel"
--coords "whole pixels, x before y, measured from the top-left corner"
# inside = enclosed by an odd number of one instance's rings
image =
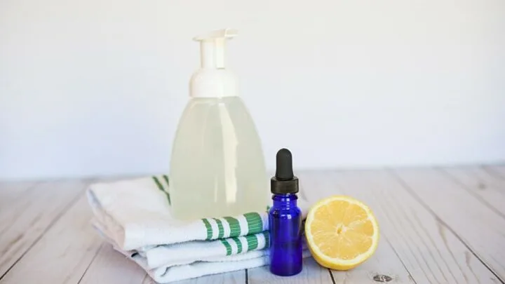
[[[269,246],[268,231],[217,241],[189,241],[125,251],[117,248],[104,229],[100,228],[100,224],[95,224],[95,229],[115,250],[142,267],[156,283],[170,283],[269,264],[269,251],[266,249]],[[304,243],[303,257],[309,256],[310,252]]]

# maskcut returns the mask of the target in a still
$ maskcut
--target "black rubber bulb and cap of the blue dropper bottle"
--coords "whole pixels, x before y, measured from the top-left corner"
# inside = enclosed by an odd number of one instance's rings
[[[296,194],[298,178],[292,173],[292,156],[288,149],[280,149],[276,156],[276,175],[270,180],[272,194]]]

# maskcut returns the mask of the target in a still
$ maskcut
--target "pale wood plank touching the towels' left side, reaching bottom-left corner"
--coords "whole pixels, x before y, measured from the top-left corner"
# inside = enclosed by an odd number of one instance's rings
[[[43,204],[46,208],[56,205]],[[90,226],[90,217],[86,196],[82,194],[0,283],[78,283],[102,245],[102,239]]]

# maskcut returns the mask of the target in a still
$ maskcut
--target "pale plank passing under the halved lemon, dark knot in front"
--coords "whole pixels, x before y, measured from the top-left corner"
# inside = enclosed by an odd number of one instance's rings
[[[300,183],[304,186],[305,195],[311,203],[321,198],[354,192],[354,188],[344,191],[337,185],[335,172],[314,171],[298,174]],[[388,279],[389,283],[414,283],[407,269],[398,255],[385,238],[379,238],[379,245],[375,254],[360,266],[351,271],[332,271],[335,283],[375,283],[377,280]]]

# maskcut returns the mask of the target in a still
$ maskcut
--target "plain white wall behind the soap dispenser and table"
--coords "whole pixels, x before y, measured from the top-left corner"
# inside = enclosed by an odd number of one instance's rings
[[[505,160],[503,0],[4,0],[0,178],[167,171],[222,27],[269,168]]]

